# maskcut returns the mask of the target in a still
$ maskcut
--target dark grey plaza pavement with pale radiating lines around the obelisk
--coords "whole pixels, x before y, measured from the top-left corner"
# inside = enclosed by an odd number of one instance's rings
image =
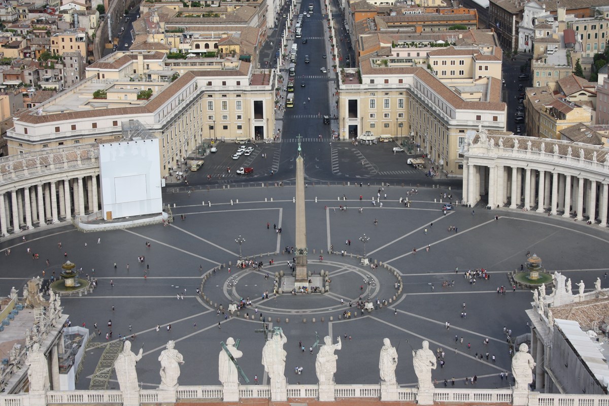
[[[331,335],[335,341],[337,336],[343,339],[342,349],[337,351],[337,383],[378,383],[379,350],[382,338],[389,337],[394,346],[399,346],[396,375],[401,385],[416,382],[411,346],[420,348],[422,340],[429,340],[431,349],[445,350],[446,365],[443,369],[438,366],[432,373],[440,382],[438,385],[442,385],[444,379],[455,377],[456,387],[463,388],[463,379],[477,374],[477,387],[507,387],[511,380],[499,377],[501,371],[510,371],[503,327],[512,329],[513,337],[527,332],[524,310],[530,306],[532,294],[519,289],[513,293],[508,287],[506,295],[498,295],[496,287],[507,285],[506,272],[524,264],[526,251],[537,253],[548,270],[563,271],[574,282],[583,279],[588,289],[593,287],[597,276],[602,279],[603,287],[607,285],[603,274],[607,271],[609,234],[605,229],[533,212],[476,209],[472,215],[471,209],[457,207],[444,216],[442,205],[434,203],[438,192],[448,192],[442,189],[418,189],[418,194],[410,197],[413,200],[410,208],[405,208],[398,199],[406,197],[407,189],[385,187],[383,194],[387,193],[388,199],[383,200],[384,207],[373,207],[370,200],[377,190],[378,186],[306,188],[309,263],[315,271],[322,268],[330,271],[333,282],[329,295],[288,294],[273,299],[273,279],[265,280],[263,272],[287,270],[286,262],[291,255],[272,255],[273,267],[268,266],[270,257],[263,257],[262,271],[238,271],[231,267],[231,276],[239,279],[235,288],[237,295],[249,296],[265,318],[272,317],[270,326],[283,328],[288,339],[286,377],[289,383],[317,382],[315,355],[309,354],[317,332],[320,340],[324,335]],[[343,194],[347,200],[338,201],[337,197],[342,198]],[[460,191],[453,194],[460,199]],[[363,196],[362,202],[359,195]],[[293,197],[293,187],[195,191],[190,196],[166,194],[164,203],[175,204],[172,212],[176,220],[169,227],[156,225],[80,233],[62,226],[27,234],[26,242],[22,242],[21,237],[5,239],[0,242],[0,250],[11,248],[12,253],[0,254],[0,292],[8,295],[13,285],[21,290],[27,279],[41,275],[43,269],[46,278],[54,270],[58,275],[66,251],[68,259],[78,268],[82,267],[83,273],[93,276],[92,269],[95,269],[94,277],[99,285],[91,295],[63,298],[65,313],[70,315],[72,325],[86,323],[86,327],[93,329],[93,323],[97,323],[102,334],[94,341],[99,343],[105,342],[108,320],[113,322],[115,340],[119,334],[129,334],[128,325],[132,324],[137,335],[135,351],[144,346],[144,357],[137,366],[138,380],[144,388],[154,388],[160,383],[157,359],[170,339],[176,341],[175,348],[185,355],[181,385],[219,384],[219,343],[227,337],[241,338],[239,349],[244,356],[239,364],[250,382],[257,375],[259,382],[265,383],[267,376],[261,365],[264,341],[262,334],[254,332],[261,327],[259,318],[246,321],[241,313],[241,317],[225,321],[217,316],[215,309],[197,298],[195,289],[200,286],[203,273],[228,265],[229,261],[236,262],[239,246],[234,239],[238,236],[245,238],[244,256],[281,252],[286,245],[294,245]],[[211,202],[211,206],[203,206],[202,201]],[[347,205],[347,211],[340,211],[339,205]],[[359,207],[364,208],[362,213],[357,210]],[[186,220],[180,220],[180,214],[185,214]],[[497,221],[495,214],[499,214]],[[373,224],[374,219],[378,219],[378,226]],[[270,229],[266,227],[267,222]],[[282,227],[281,234],[273,231],[273,223]],[[457,226],[458,233],[447,231],[449,225]],[[428,234],[423,231],[426,227]],[[364,275],[375,277],[373,299],[389,300],[395,294],[395,278],[384,268],[370,271],[358,265],[354,258],[328,254],[324,255],[324,262],[319,263],[319,250],[326,251],[329,244],[334,245],[335,251],[346,249],[349,253],[362,254],[359,237],[364,233],[370,237],[366,245],[368,256],[389,263],[403,275],[405,295],[389,307],[351,320],[338,320],[348,308],[348,301],[355,301],[361,295]],[[345,246],[347,239],[351,239],[350,247]],[[146,248],[146,241],[151,243],[150,248]],[[58,242],[62,242],[61,250],[57,248]],[[429,252],[424,250],[427,245]],[[40,260],[31,259],[26,253],[28,247],[40,255]],[[412,253],[412,248],[417,248],[417,254]],[[316,254],[312,253],[314,249]],[[146,257],[144,264],[138,264],[137,257],[141,255]],[[46,259],[51,261],[51,267],[44,266]],[[128,271],[127,264],[130,265]],[[149,270],[144,278],[146,265]],[[454,273],[455,267],[459,267],[459,275]],[[490,271],[490,281],[471,285],[463,278],[462,271],[480,267]],[[204,287],[206,295],[225,307],[229,301],[227,278],[227,268],[222,268]],[[454,287],[442,288],[443,281],[452,280]],[[177,294],[184,289],[184,299],[177,299]],[[271,298],[262,300],[265,290],[269,290]],[[340,298],[345,304],[340,304]],[[466,319],[460,317],[463,302]],[[394,309],[398,310],[397,315]],[[253,314],[253,307],[248,311]],[[312,317],[316,318],[315,323]],[[321,317],[325,318],[323,323]],[[329,322],[329,317],[334,321]],[[280,323],[276,323],[276,318],[281,319]],[[306,323],[303,318],[307,319]],[[219,321],[221,329],[217,326]],[[445,328],[446,321],[451,323],[449,330]],[[159,332],[155,331],[157,324],[161,326]],[[167,324],[171,324],[170,332],[166,331]],[[345,334],[351,336],[351,340],[345,341]],[[463,344],[455,343],[455,335],[459,339],[463,337]],[[482,344],[487,337],[488,348]],[[297,348],[300,340],[306,346],[304,354]],[[471,350],[467,349],[467,343],[471,343]],[[474,354],[481,351],[495,354],[496,363],[474,359]],[[100,348],[87,351],[77,388],[88,388],[101,352]],[[303,366],[303,374],[296,375],[295,366]],[[110,381],[110,388],[118,388],[114,379]]]

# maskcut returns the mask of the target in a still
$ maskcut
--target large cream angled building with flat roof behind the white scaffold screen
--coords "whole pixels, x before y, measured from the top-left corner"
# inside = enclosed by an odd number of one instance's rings
[[[204,139],[273,136],[272,71],[210,60],[180,74],[165,58],[114,52],[93,63],[86,79],[15,116],[6,135],[9,153],[113,141],[121,138],[122,123],[139,120],[160,138],[164,176]]]

